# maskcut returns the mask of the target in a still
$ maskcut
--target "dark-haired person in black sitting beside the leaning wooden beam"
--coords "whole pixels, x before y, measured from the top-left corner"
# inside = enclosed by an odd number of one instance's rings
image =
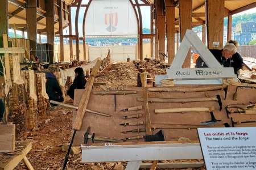
[[[76,77],[73,81],[73,84],[69,87],[69,90],[67,92],[67,94],[69,95],[69,97],[71,97],[71,99],[74,99],[75,89],[83,89],[85,88],[85,84],[86,84],[84,70],[82,70],[81,67],[77,67],[75,69],[75,76]]]

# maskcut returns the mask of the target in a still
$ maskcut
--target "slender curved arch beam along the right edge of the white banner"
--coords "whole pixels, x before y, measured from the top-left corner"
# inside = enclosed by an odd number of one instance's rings
[[[139,42],[138,42],[138,58],[143,60],[143,46],[142,46],[142,14],[141,7],[139,6],[138,0],[135,0],[137,5],[138,15],[139,15]]]

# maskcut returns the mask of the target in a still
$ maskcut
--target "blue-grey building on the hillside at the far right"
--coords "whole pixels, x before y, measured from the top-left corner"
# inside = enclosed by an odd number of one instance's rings
[[[234,39],[240,45],[248,45],[251,40],[256,40],[256,22],[237,23]]]

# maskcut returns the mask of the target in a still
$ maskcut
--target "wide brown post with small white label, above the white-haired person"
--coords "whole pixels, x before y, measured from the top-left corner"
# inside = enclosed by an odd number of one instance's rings
[[[224,0],[205,0],[207,42],[209,49],[222,49],[224,32]]]

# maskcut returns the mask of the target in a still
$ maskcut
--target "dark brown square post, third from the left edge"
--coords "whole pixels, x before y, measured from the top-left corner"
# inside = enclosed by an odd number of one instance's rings
[[[49,48],[49,63],[54,62],[54,0],[46,1],[46,32]]]

